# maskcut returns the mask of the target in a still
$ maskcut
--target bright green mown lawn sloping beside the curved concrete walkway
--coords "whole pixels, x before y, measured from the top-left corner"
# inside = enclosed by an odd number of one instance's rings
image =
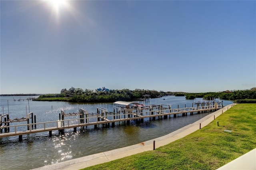
[[[206,127],[156,150],[83,170],[215,170],[256,148],[255,122],[256,104],[235,105]]]

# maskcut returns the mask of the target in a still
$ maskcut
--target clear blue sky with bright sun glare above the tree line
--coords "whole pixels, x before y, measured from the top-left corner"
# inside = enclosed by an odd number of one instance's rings
[[[256,86],[256,1],[1,0],[0,93]]]

